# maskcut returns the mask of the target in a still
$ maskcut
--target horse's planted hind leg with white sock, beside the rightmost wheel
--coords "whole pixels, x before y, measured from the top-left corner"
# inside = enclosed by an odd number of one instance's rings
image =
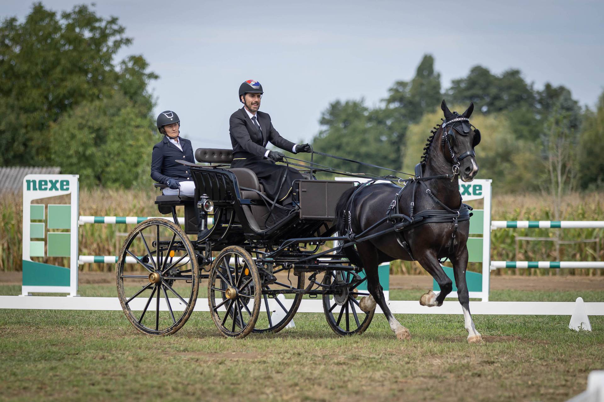
[[[390,312],[390,309],[388,309],[388,305],[386,304],[384,289],[382,289],[382,286],[379,284],[379,276],[377,274],[377,265],[379,265],[377,260],[377,249],[367,242],[359,243],[356,248],[361,256],[363,267],[365,268],[365,275],[367,275],[367,290],[371,295],[369,298],[373,297],[374,303],[377,303],[382,309],[382,312],[384,312],[384,315],[388,319],[390,329],[394,332],[399,341],[411,339],[409,330],[400,325],[400,322],[394,318],[393,313]],[[371,303],[370,300],[367,301],[368,303]],[[361,300],[359,305],[363,306],[367,301]],[[375,304],[373,304],[373,307],[375,307]]]

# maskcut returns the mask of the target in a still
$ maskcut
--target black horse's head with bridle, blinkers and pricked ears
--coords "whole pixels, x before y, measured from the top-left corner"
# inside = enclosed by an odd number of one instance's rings
[[[444,100],[440,108],[445,113],[445,121],[441,125],[445,157],[451,162],[454,174],[459,174],[462,181],[471,181],[478,173],[474,147],[480,143],[480,131],[469,121],[474,103],[461,115],[457,111],[451,112]]]

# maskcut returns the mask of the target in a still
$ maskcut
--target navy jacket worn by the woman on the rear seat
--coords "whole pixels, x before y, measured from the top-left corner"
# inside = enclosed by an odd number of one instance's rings
[[[191,142],[178,137],[182,151],[168,140],[167,136],[153,146],[151,156],[151,177],[158,183],[167,184],[170,177],[178,181],[193,180],[188,166],[177,163],[176,160],[186,160],[195,163]]]

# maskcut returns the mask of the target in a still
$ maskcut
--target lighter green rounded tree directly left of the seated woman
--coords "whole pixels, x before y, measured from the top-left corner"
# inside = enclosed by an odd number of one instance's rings
[[[47,135],[50,162],[62,173],[79,174],[85,187],[149,183],[150,150],[158,137],[142,109],[117,92],[62,113]]]

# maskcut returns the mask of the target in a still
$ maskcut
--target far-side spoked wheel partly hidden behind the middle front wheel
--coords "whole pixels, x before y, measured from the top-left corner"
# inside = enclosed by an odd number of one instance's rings
[[[256,321],[254,332],[277,333],[292,321],[292,318],[294,318],[295,313],[298,311],[298,307],[300,307],[302,295],[295,294],[292,295],[293,298],[288,298],[291,297],[291,294],[286,296],[278,292],[304,289],[304,272],[300,272],[298,276],[292,274],[290,277],[290,280],[293,279],[291,283],[284,275],[279,275],[279,272],[285,271],[283,269],[275,269],[274,274],[277,280],[273,283],[267,283],[266,280],[263,281],[260,315],[258,321]],[[260,278],[265,279],[263,278],[262,271],[260,272]]]

